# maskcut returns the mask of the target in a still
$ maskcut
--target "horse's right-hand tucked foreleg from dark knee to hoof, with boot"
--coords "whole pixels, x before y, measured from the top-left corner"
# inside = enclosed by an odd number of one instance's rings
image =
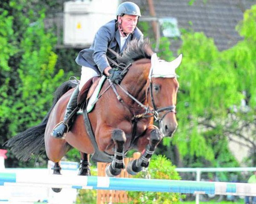
[[[127,172],[131,175],[136,175],[142,170],[143,167],[148,167],[151,156],[154,154],[154,150],[162,139],[163,135],[161,134],[160,130],[152,130],[150,133],[149,144],[146,146],[139,159],[135,159],[128,163],[126,168]]]

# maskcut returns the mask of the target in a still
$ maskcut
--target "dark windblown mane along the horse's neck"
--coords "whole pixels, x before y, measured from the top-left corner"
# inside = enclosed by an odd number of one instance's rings
[[[131,40],[121,56],[117,57],[119,63],[129,64],[138,59],[151,59],[154,52],[151,49],[151,43],[148,39]]]

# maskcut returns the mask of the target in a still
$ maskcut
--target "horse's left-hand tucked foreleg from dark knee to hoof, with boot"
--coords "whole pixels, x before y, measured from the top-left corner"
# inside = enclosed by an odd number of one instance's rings
[[[117,176],[121,173],[121,170],[125,168],[124,162],[124,144],[126,142],[125,133],[123,130],[113,130],[111,138],[115,144],[115,154],[114,159],[106,167],[106,175],[109,177]]]

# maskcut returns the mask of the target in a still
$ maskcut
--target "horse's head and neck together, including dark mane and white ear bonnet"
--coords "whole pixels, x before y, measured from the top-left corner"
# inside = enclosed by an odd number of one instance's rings
[[[122,84],[139,101],[146,99],[144,105],[150,107],[158,120],[161,133],[172,136],[177,128],[175,111],[179,88],[175,69],[181,63],[182,54],[172,62],[166,62],[157,58],[149,40],[133,40],[118,60],[132,63]]]

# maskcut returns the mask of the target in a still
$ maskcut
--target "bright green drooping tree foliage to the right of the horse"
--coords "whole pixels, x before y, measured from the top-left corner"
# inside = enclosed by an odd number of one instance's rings
[[[241,142],[255,135],[248,131],[245,135],[241,128],[250,124],[256,129],[256,6],[244,13],[237,30],[244,39],[226,51],[218,51],[203,33],[182,36],[178,52],[183,53],[183,62],[177,69],[179,128],[172,143],[187,159],[204,158],[214,166],[227,161],[237,165],[228,153],[227,141],[238,137]],[[243,101],[246,104],[241,105]],[[251,147],[255,149],[255,143]]]

